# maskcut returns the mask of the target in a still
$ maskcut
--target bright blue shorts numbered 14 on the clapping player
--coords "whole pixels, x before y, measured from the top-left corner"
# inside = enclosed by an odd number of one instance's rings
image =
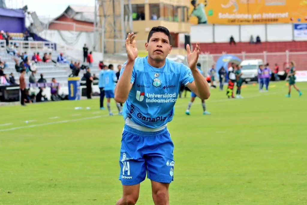
[[[122,133],[119,180],[136,185],[146,178],[171,183],[174,171],[174,144],[168,129],[144,132],[127,125]]]

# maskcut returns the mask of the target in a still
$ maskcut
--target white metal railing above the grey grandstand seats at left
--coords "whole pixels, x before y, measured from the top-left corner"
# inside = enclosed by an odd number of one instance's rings
[[[56,46],[53,42],[48,41],[17,41],[10,40],[9,45],[16,44],[17,51],[30,51],[30,50],[55,50]]]

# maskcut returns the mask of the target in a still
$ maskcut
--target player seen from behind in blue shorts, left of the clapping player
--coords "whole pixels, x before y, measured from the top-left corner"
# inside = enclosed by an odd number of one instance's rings
[[[117,77],[114,70],[106,69],[103,71],[103,82],[104,82],[104,92],[107,98],[107,108],[109,111],[109,115],[113,115],[111,111],[111,98],[114,98],[114,89],[115,82],[117,81]],[[119,111],[119,115],[122,115],[121,107],[118,102],[116,102],[117,109]]]

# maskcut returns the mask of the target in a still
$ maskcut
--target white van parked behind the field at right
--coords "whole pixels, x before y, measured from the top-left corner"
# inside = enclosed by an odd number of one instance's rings
[[[240,63],[242,78],[245,82],[258,81],[258,68],[264,65],[262,59],[248,59]]]

